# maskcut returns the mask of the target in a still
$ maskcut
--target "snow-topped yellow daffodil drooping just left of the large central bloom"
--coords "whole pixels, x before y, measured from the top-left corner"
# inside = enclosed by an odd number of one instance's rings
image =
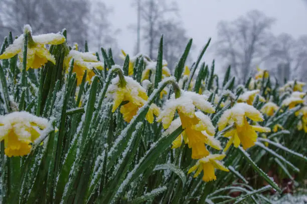
[[[114,112],[122,102],[127,102],[120,107],[120,113],[126,122],[130,122],[137,110],[142,107],[148,100],[146,90],[131,77],[120,79],[114,78],[108,88],[108,97],[112,98]],[[149,123],[154,122],[154,115],[158,116],[160,109],[157,105],[151,104],[146,114],[146,120]]]

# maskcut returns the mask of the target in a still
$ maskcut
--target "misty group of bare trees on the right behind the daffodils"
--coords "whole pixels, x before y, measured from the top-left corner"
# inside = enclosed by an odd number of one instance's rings
[[[275,36],[271,32],[275,22],[260,11],[250,11],[218,24],[215,54],[225,65],[231,65],[242,82],[260,64],[279,81],[307,81],[307,35],[297,39],[286,33]]]

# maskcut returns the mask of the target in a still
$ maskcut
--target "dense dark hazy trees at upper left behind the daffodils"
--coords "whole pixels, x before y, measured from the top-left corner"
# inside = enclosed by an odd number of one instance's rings
[[[116,31],[108,17],[112,10],[99,0],[2,0],[0,8],[0,38],[10,31],[13,35],[23,33],[30,24],[34,35],[57,33],[68,30],[67,41],[84,48],[98,51],[104,47],[117,47]],[[1,40],[2,41],[2,40]]]

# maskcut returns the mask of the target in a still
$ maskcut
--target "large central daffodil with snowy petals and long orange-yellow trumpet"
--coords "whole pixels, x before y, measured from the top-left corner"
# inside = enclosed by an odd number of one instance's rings
[[[157,120],[162,121],[164,129],[168,129],[177,110],[181,125],[185,130],[186,142],[192,148],[192,158],[199,159],[209,154],[205,143],[217,149],[221,147],[218,141],[213,138],[215,132],[210,118],[202,112],[195,112],[195,108],[207,113],[215,112],[211,103],[207,101],[207,96],[184,91],[180,97],[175,98],[173,96],[166,102]],[[179,140],[177,138],[175,144],[173,144],[174,147],[179,146]]]

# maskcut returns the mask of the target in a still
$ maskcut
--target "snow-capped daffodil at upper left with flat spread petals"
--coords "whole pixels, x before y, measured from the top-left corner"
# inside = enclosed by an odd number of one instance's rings
[[[46,49],[45,45],[59,45],[65,42],[65,37],[60,34],[42,34],[38,36],[32,36],[32,29],[29,25],[25,25],[25,33],[28,34],[28,49],[27,49],[27,67],[37,69],[42,65],[45,65],[48,61],[53,64],[56,63],[55,58]],[[0,55],[0,59],[9,59],[18,54],[20,62],[24,60],[23,48],[24,48],[25,35],[19,36],[13,44],[11,44],[5,52]]]

